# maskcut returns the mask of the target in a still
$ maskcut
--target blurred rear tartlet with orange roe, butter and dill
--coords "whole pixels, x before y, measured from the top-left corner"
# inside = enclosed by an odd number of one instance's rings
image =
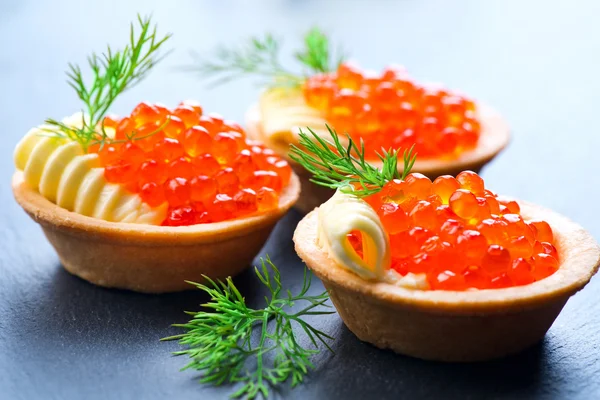
[[[248,135],[284,157],[290,144],[298,144],[299,128],[329,137],[329,125],[363,142],[364,155],[374,165],[379,165],[382,149],[414,146],[419,154],[414,171],[434,179],[479,171],[508,144],[508,126],[489,106],[418,82],[400,66],[375,72],[344,57],[334,60],[331,47],[322,32],[311,30],[305,48],[295,54],[308,72],[296,74],[281,66],[279,43],[267,36],[254,39],[249,48],[221,49],[218,59],[202,62],[199,71],[224,80],[242,74],[266,76],[265,90],[247,113]],[[311,184],[301,166],[292,166],[303,188],[297,207],[310,211],[331,196],[331,190]]]

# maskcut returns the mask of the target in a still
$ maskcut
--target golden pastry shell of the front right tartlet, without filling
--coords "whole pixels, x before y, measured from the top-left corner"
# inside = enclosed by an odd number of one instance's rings
[[[600,262],[600,248],[583,228],[547,209],[519,204],[524,218],[552,226],[561,261],[553,275],[526,286],[452,292],[365,281],[317,245],[316,211],[298,224],[294,242],[344,323],[361,340],[424,359],[487,360],[538,342]]]

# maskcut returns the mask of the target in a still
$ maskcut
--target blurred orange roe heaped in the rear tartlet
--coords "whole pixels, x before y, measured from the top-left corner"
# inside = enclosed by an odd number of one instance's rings
[[[343,63],[310,77],[304,97],[338,132],[364,140],[370,158],[415,145],[419,158],[452,159],[473,149],[481,133],[473,101],[420,85],[401,67],[376,75]]]

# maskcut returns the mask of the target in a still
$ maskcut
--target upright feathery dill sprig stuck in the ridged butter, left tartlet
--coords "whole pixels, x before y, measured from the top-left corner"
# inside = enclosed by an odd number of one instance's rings
[[[129,43],[114,51],[110,46],[101,55],[88,56],[91,70],[91,82],[85,82],[81,68],[69,64],[67,83],[75,89],[83,102],[80,126],[69,126],[63,122],[48,118],[48,133],[75,140],[87,149],[90,144],[104,143],[107,133],[101,124],[104,116],[115,99],[127,89],[132,88],[146,77],[148,72],[167,54],[160,54],[162,45],[171,37],[167,34],[157,36],[156,25],[151,25],[150,17],[137,18],[139,32],[134,23],[129,32]]]

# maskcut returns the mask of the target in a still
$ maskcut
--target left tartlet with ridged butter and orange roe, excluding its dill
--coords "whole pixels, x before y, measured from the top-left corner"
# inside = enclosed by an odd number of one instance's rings
[[[215,132],[239,130],[234,122],[223,121],[216,114],[202,116],[201,107],[196,103],[184,102],[173,112],[185,111],[188,117],[199,119],[199,124],[215,126],[210,131],[210,135],[215,135],[212,139],[201,125],[183,127],[183,122],[180,122],[182,130],[174,136],[165,137],[165,131],[158,131],[137,141],[115,139],[131,129],[132,116],[138,115],[144,127],[154,124],[148,122],[152,118],[163,118],[162,114],[156,114],[158,110],[170,112],[164,106],[140,103],[130,117],[106,117],[102,122],[106,143],[87,153],[75,140],[44,136],[54,132],[47,127],[32,129],[16,147],[17,171],[12,181],[15,199],[41,225],[63,266],[96,285],[162,293],[190,289],[186,281],[200,282],[204,275],[212,279],[235,276],[250,265],[276,222],[299,196],[300,184],[295,174],[290,173],[289,179],[283,181],[275,172],[269,172],[266,177],[277,178],[279,188],[268,189],[274,196],[272,203],[261,209],[257,199],[261,190],[267,188],[242,187],[242,181],[237,178],[239,171],[231,168],[237,161],[218,163],[206,152],[208,150],[200,151],[196,157],[190,155],[195,154],[197,146],[195,141],[188,140],[188,133],[192,135],[189,137],[200,135],[200,140],[216,143],[216,138],[223,134]],[[81,117],[75,114],[65,118],[63,123],[77,129]],[[176,121],[174,116],[168,118]],[[222,123],[222,127],[215,125],[217,123]],[[266,162],[264,159],[271,157],[271,151],[258,142],[245,140],[242,132],[231,136],[231,143],[235,137],[244,144],[236,145],[236,151],[231,149],[230,156],[237,154],[235,160],[243,155],[246,161]],[[191,147],[185,147],[185,143]],[[187,153],[166,160],[165,151],[174,145]],[[127,154],[141,158],[135,161],[127,158]],[[274,162],[281,160],[271,158]],[[207,160],[212,161],[209,169],[214,167],[216,171],[208,173],[208,167],[194,164]],[[187,166],[181,169],[181,165]],[[154,178],[145,178],[148,175],[145,166],[154,166],[150,170],[154,171],[150,174]],[[258,167],[255,164],[246,167],[251,167],[247,174],[250,180],[246,182],[255,182],[252,171]],[[283,172],[290,171],[287,164],[281,167]],[[160,173],[163,169],[164,173]],[[222,176],[234,182],[225,179],[223,182],[227,185],[222,187],[219,176],[224,172]],[[263,172],[268,171],[256,173]],[[176,175],[168,178],[171,173]],[[198,182],[204,182],[200,188],[204,189],[194,189],[194,179],[200,178],[203,180]],[[206,182],[212,182],[212,192],[205,188]],[[148,186],[151,191],[147,191]],[[187,197],[176,196],[181,190]],[[239,194],[246,197],[238,202]],[[247,196],[250,203],[244,202]],[[229,210],[230,206],[234,209]],[[244,206],[246,208],[241,208]]]

